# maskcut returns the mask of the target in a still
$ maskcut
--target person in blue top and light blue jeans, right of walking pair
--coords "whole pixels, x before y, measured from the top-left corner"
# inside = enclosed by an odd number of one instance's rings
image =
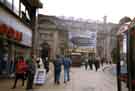
[[[70,81],[70,67],[71,67],[72,61],[70,59],[70,56],[67,55],[63,60],[64,65],[64,83],[67,81]]]

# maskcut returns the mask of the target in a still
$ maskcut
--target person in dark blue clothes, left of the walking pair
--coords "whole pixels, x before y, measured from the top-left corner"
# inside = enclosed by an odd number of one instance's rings
[[[62,65],[62,57],[60,57],[60,55],[56,55],[56,59],[54,60],[54,83],[55,84],[60,84],[61,65]]]

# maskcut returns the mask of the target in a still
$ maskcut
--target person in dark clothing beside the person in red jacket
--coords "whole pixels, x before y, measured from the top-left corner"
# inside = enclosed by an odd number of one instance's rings
[[[36,72],[36,66],[33,61],[33,54],[31,53],[30,56],[27,58],[28,62],[28,71],[27,71],[27,86],[26,89],[30,90],[33,89],[33,81],[34,81],[34,75]]]

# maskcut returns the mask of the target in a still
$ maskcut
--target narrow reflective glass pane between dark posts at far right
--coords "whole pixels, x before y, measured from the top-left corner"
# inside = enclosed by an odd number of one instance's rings
[[[123,33],[120,49],[120,81],[121,90],[128,91],[128,71],[127,71],[127,33]]]

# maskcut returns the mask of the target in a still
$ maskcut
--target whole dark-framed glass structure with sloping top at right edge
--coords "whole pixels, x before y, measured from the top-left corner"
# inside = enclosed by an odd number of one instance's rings
[[[134,19],[135,20],[135,19]],[[135,22],[117,35],[118,91],[135,91]]]

